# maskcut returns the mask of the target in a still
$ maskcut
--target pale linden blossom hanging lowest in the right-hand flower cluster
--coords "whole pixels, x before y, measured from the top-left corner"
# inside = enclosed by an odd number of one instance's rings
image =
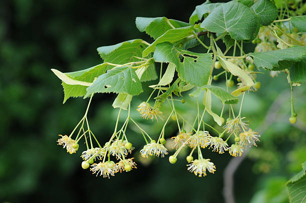
[[[213,164],[213,162],[210,162],[209,160],[210,160],[209,158],[207,159],[201,158],[199,160],[195,159],[190,164],[187,164],[187,166],[189,166],[187,170],[193,172],[195,175],[198,174],[199,177],[201,177],[202,175],[205,176],[206,170],[214,173],[215,165]]]

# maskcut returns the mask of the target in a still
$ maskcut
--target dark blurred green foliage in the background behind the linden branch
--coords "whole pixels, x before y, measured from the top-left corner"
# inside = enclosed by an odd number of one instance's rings
[[[223,170],[231,158],[229,154],[219,156],[205,149],[205,156],[214,161],[217,170],[204,178],[188,172],[182,156],[175,165],[169,164],[167,158],[139,158],[136,170],[103,179],[82,170],[78,155],[69,155],[56,145],[57,134],[69,133],[81,118],[87,99],[69,99],[63,105],[60,81],[50,68],[62,72],[83,69],[99,63],[95,49],[100,45],[132,38],[151,41],[137,31],[136,16],[187,21],[194,6],[200,3],[154,0],[148,6],[147,1],[140,0],[1,0],[0,201],[92,202],[105,198],[111,202],[223,202]],[[254,48],[253,44],[244,47],[246,52]],[[271,78],[268,72],[264,73],[257,78],[261,81],[259,91],[245,97],[243,115],[250,126],[259,125],[274,99],[283,91],[287,93],[280,98],[282,107],[275,122],[260,132],[258,147],[251,149],[249,159],[235,173],[237,202],[288,202],[284,183],[305,160],[305,84],[294,88],[298,121],[290,125],[289,85],[285,76],[282,73]],[[89,109],[92,131],[102,141],[106,141],[115,123],[117,109],[111,107],[114,96],[95,95]],[[147,96],[143,93],[132,100],[131,116],[155,137],[162,123],[142,120],[135,110]],[[191,120],[195,112],[189,109],[195,101],[188,97],[185,100],[178,110]],[[220,111],[217,101],[213,103],[212,108]],[[206,119],[212,123],[210,117]],[[166,128],[167,137],[176,133],[171,126],[175,126],[174,121]],[[144,144],[140,135],[132,125],[128,133],[134,134],[130,141],[138,151]]]

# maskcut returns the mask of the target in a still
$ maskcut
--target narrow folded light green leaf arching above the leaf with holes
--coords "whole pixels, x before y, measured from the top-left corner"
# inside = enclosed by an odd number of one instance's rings
[[[180,27],[175,29],[169,29],[161,36],[159,36],[155,41],[153,41],[148,47],[146,47],[143,52],[142,56],[147,56],[150,52],[153,52],[155,49],[156,44],[168,41],[170,43],[174,43],[180,39],[185,38],[192,34],[193,26],[186,26]]]

